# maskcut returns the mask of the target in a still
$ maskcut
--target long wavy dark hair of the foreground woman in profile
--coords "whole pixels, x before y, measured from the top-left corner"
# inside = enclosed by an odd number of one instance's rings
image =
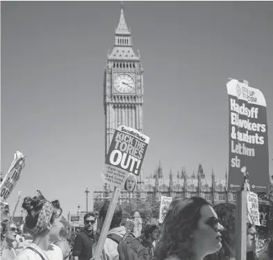
[[[209,202],[200,197],[178,198],[169,205],[160,239],[156,245],[155,259],[163,260],[171,255],[179,259],[191,259],[195,253],[192,252],[192,239],[190,235],[197,228],[201,217],[200,209]]]

